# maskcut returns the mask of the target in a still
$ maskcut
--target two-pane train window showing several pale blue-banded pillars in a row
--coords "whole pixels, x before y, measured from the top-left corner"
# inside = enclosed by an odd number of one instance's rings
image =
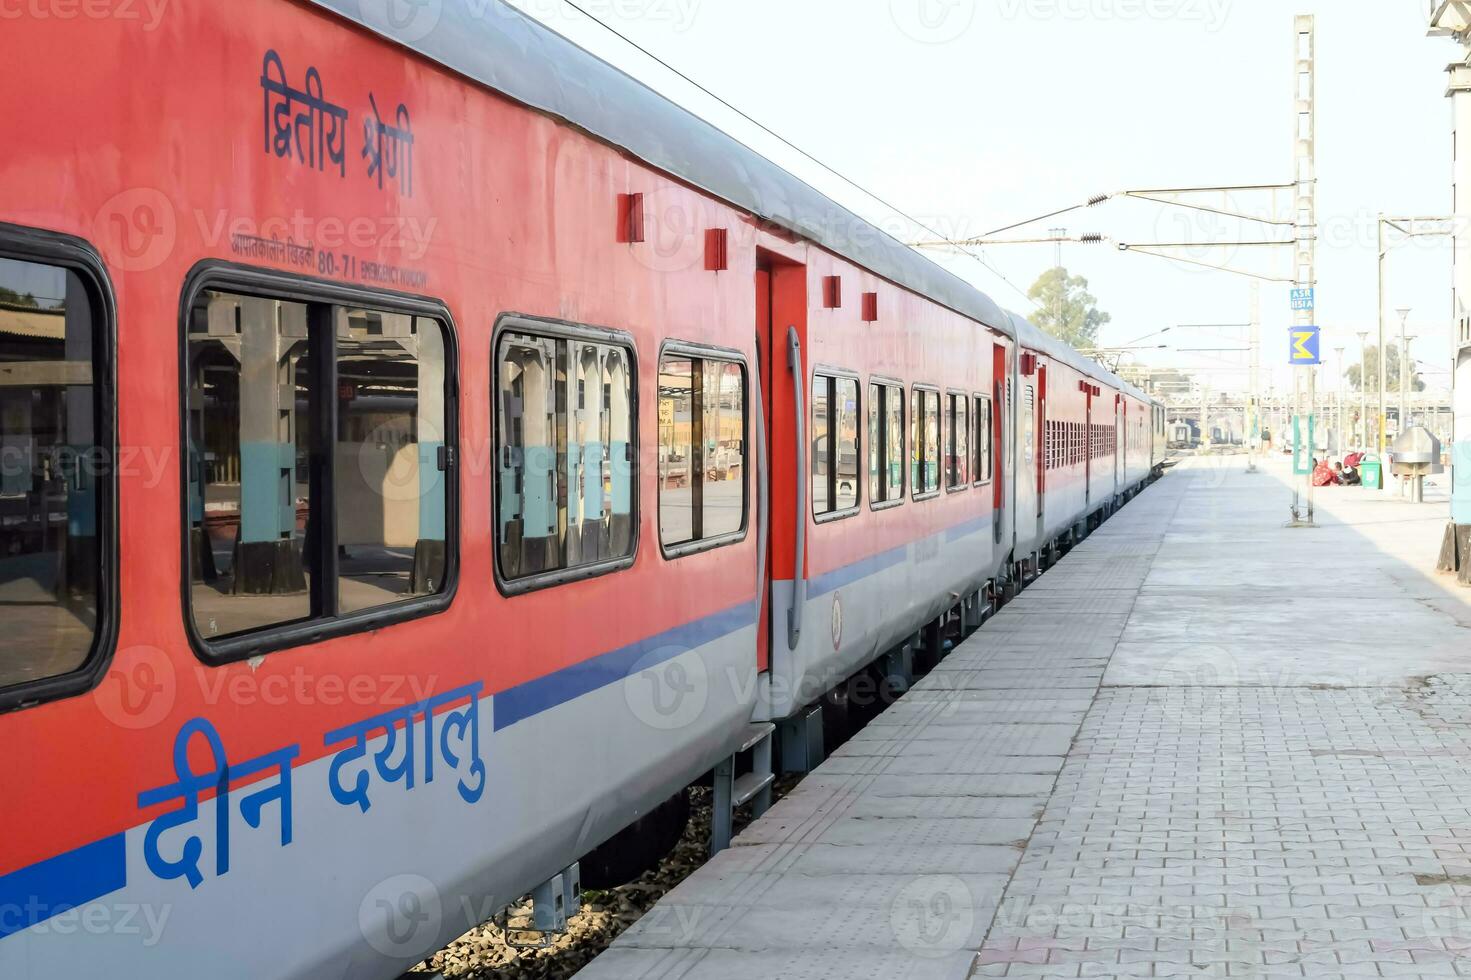
[[[633,564],[635,378],[625,334],[502,321],[491,384],[496,569],[506,593]]]

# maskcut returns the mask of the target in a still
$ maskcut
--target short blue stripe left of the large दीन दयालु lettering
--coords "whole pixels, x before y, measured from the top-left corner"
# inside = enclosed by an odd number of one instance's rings
[[[0,939],[128,884],[124,836],[104,837],[0,877]]]

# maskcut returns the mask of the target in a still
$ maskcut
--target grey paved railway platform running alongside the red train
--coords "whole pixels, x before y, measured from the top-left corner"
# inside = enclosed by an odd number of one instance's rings
[[[1471,976],[1442,503],[1190,459],[578,976]]]

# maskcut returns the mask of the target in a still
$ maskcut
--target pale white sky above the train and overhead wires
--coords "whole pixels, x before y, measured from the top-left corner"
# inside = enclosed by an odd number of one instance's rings
[[[1294,13],[1317,16],[1318,322],[1333,390],[1377,330],[1380,213],[1450,209],[1453,41],[1427,37],[1427,0],[577,0],[671,66],[822,163],[944,237],[981,235],[1096,194],[1159,187],[1286,184],[1293,178]],[[931,238],[634,50],[563,0],[512,0],[578,44],[761,150],[906,240]],[[1290,216],[1287,194],[1197,197]],[[1097,232],[1115,241],[1290,237],[1133,199],[1109,200],[1002,237]],[[984,265],[931,253],[994,300],[1028,312],[1025,291],[1056,262],[1052,244],[994,244]],[[1289,249],[1192,249],[1187,258],[1290,274]],[[1242,327],[1252,280],[1064,246],[1112,315],[1103,346],[1243,388]],[[1427,381],[1449,381],[1450,247],[1399,243],[1387,262],[1392,338],[1409,308]],[[1290,384],[1289,285],[1262,283],[1262,363]],[[1158,331],[1169,327],[1167,334]],[[1374,343],[1371,335],[1370,343]],[[1208,350],[1197,350],[1208,349]],[[1222,350],[1225,349],[1225,350]],[[1264,383],[1264,384],[1265,384]]]

